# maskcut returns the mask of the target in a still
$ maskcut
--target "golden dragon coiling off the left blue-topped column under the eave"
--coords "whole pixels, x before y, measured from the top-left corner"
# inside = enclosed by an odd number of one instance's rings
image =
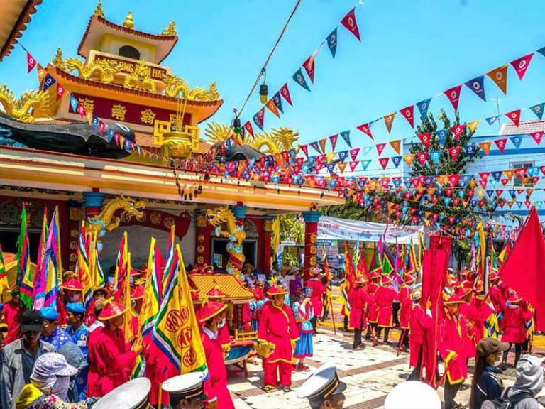
[[[103,237],[106,231],[112,231],[119,227],[122,215],[129,214],[131,217],[142,220],[144,217],[142,209],[145,208],[145,205],[145,200],[134,200],[131,197],[120,195],[106,202],[97,216],[87,218],[85,230],[90,234],[97,234],[99,238]],[[114,218],[114,214],[119,209],[123,209],[123,212]]]

